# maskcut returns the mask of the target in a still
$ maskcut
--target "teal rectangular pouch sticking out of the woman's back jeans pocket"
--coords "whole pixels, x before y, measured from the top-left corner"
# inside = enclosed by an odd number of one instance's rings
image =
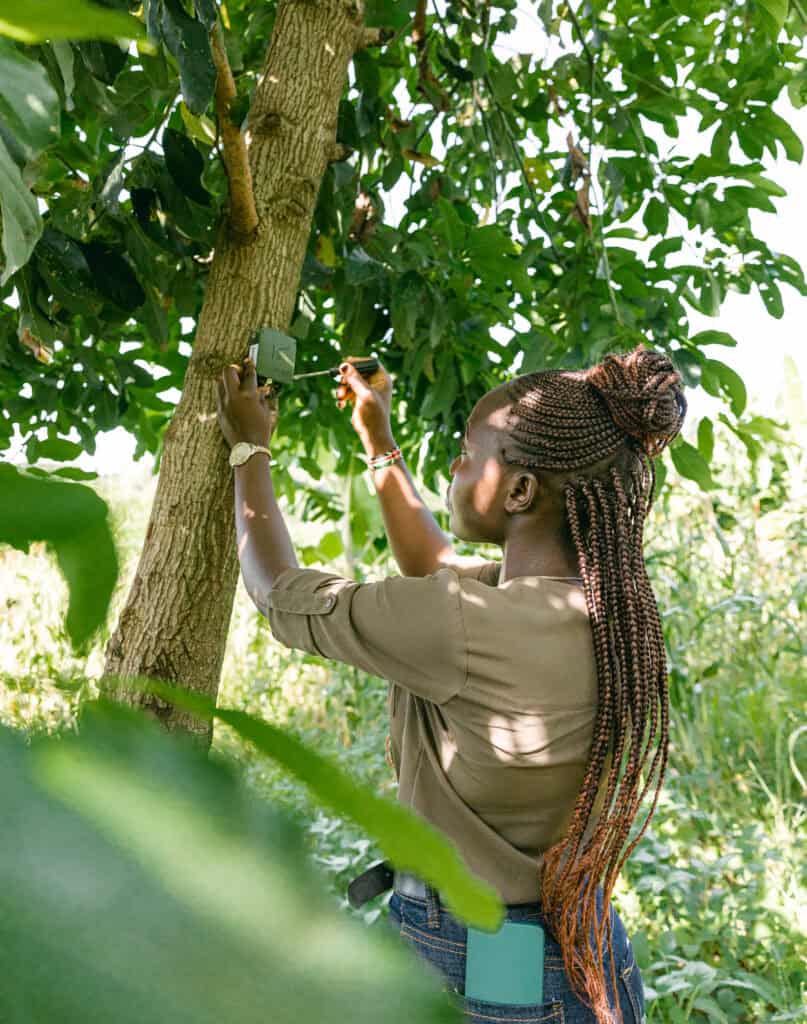
[[[486,1002],[543,1002],[544,929],[516,921],[493,933],[469,928],[465,995]]]

